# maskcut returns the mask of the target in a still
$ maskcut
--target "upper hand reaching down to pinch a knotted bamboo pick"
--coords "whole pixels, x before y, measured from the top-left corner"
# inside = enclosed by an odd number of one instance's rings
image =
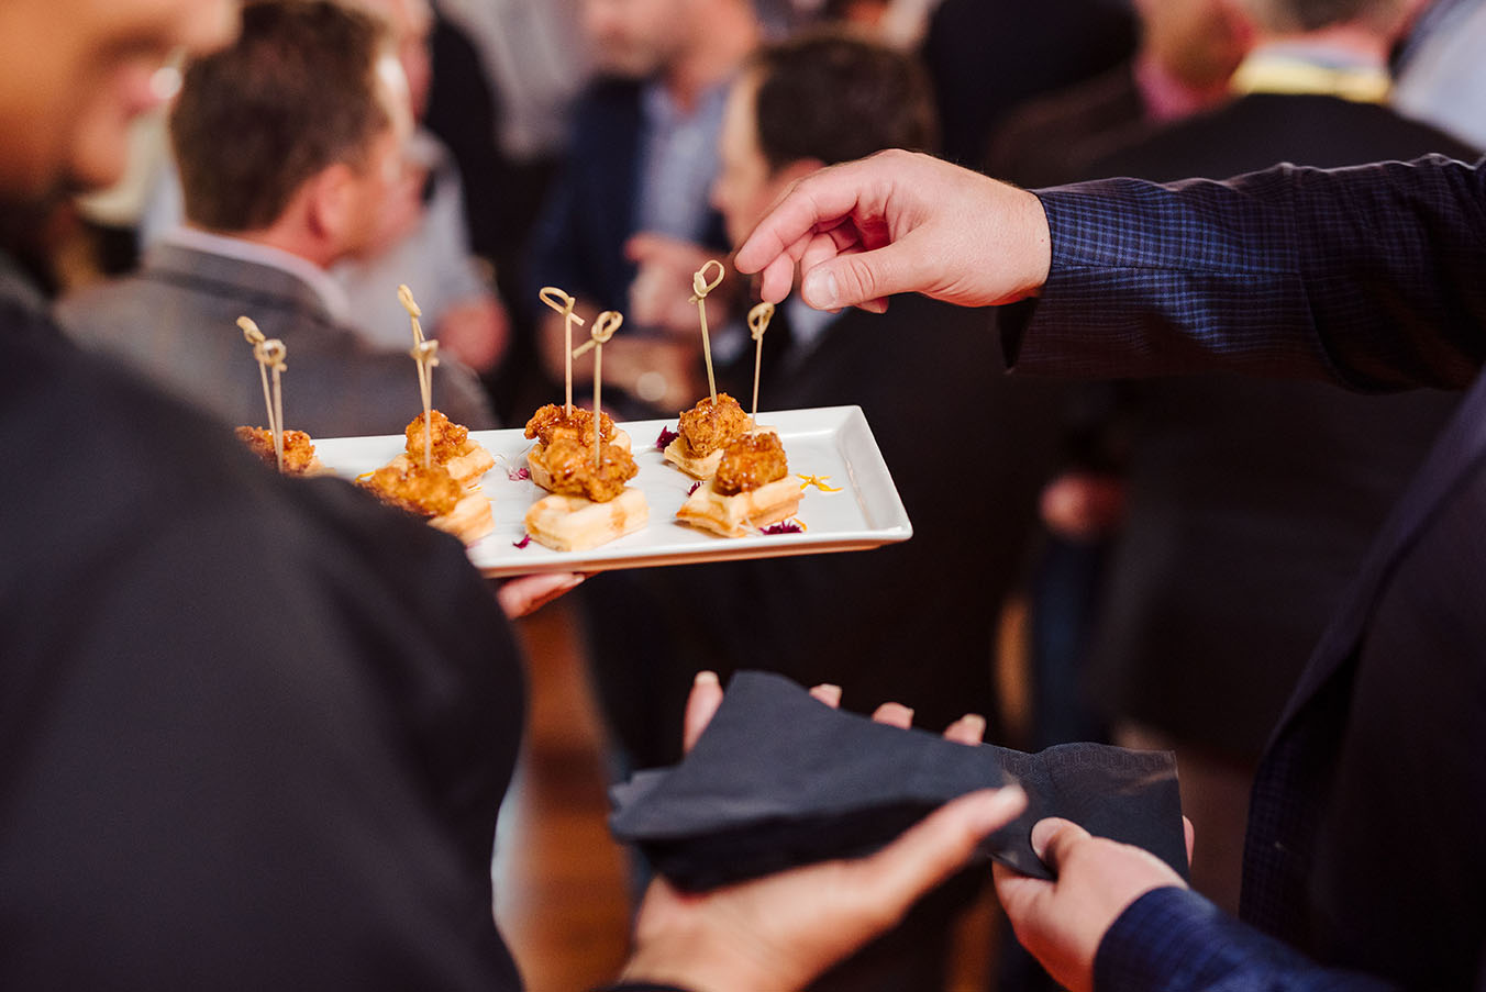
[[[739,248],[770,303],[883,310],[895,293],[961,306],[1031,296],[1051,264],[1048,218],[1025,190],[927,154],[880,151],[795,183]]]

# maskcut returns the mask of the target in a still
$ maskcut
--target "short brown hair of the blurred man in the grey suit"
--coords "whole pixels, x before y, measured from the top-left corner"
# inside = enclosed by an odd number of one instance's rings
[[[337,162],[363,165],[389,125],[377,101],[385,27],[330,0],[242,7],[232,48],[193,61],[171,114],[186,217],[208,230],[260,230]]]

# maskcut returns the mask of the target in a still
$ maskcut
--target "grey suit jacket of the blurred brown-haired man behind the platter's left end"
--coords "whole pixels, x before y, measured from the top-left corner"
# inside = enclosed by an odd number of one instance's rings
[[[336,324],[315,291],[281,269],[160,244],[135,275],[83,290],[58,307],[58,319],[83,345],[227,423],[266,426],[259,365],[236,327],[244,315],[288,349],[287,428],[311,438],[401,434],[422,411],[407,352],[376,347]],[[434,405],[470,428],[495,426],[480,382],[452,358],[434,371]]]

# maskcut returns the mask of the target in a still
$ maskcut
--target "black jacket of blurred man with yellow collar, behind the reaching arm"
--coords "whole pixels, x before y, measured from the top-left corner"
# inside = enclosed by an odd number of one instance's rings
[[[1386,107],[1256,94],[1088,163],[1086,177],[1226,178],[1275,162],[1474,157]],[[1458,397],[1360,397],[1233,376],[1123,392],[1129,512],[1106,572],[1091,696],[1254,762],[1373,535]]]

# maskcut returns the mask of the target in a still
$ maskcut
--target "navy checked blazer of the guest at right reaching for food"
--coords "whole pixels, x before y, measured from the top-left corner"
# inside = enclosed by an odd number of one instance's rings
[[[1389,389],[1462,386],[1486,358],[1480,165],[1276,168],[1042,198],[1052,273],[1006,328],[1027,370],[1217,365]],[[1410,988],[1486,974],[1483,423],[1477,382],[1311,655],[1250,814],[1244,918]],[[1216,955],[1217,924],[1189,916],[1190,930],[1146,946],[1112,937],[1141,959],[1161,943],[1169,959],[1190,949],[1214,967],[1269,967],[1257,952]]]

